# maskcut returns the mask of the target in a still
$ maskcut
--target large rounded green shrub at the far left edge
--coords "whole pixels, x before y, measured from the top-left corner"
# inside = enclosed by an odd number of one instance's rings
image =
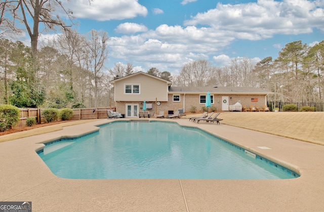
[[[9,104],[0,104],[0,131],[11,129],[18,123],[19,118],[19,108]]]

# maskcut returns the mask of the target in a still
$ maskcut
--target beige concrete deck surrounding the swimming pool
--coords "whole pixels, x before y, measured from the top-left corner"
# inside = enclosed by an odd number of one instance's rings
[[[115,120],[99,120],[0,143],[0,201],[31,201],[33,211],[324,210],[323,145],[224,124],[170,120],[211,132],[297,171],[301,177],[285,180],[63,179],[56,177],[35,151],[43,147],[39,143],[44,141],[87,134],[98,130],[96,125],[111,121]]]

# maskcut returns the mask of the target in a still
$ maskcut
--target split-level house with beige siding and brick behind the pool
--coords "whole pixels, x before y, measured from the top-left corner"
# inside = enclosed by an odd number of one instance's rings
[[[267,104],[271,92],[261,88],[242,87],[177,87],[172,82],[137,72],[110,81],[114,85],[114,101],[117,111],[125,113],[126,118],[138,117],[146,102],[147,112],[151,115],[165,111],[171,114],[179,109],[189,112],[196,107],[197,112],[205,106],[207,92],[211,93],[212,107],[218,111],[228,111],[229,105],[240,102],[242,105]]]

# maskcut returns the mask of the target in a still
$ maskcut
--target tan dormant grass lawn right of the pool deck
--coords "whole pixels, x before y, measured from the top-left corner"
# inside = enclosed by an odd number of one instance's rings
[[[324,145],[323,112],[227,112],[221,123]]]

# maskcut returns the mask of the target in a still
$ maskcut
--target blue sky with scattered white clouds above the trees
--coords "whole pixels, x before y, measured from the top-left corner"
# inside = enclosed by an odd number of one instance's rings
[[[106,69],[179,74],[204,59],[222,67],[232,59],[278,57],[289,42],[324,40],[324,0],[88,0],[63,1],[79,33],[108,32]]]

